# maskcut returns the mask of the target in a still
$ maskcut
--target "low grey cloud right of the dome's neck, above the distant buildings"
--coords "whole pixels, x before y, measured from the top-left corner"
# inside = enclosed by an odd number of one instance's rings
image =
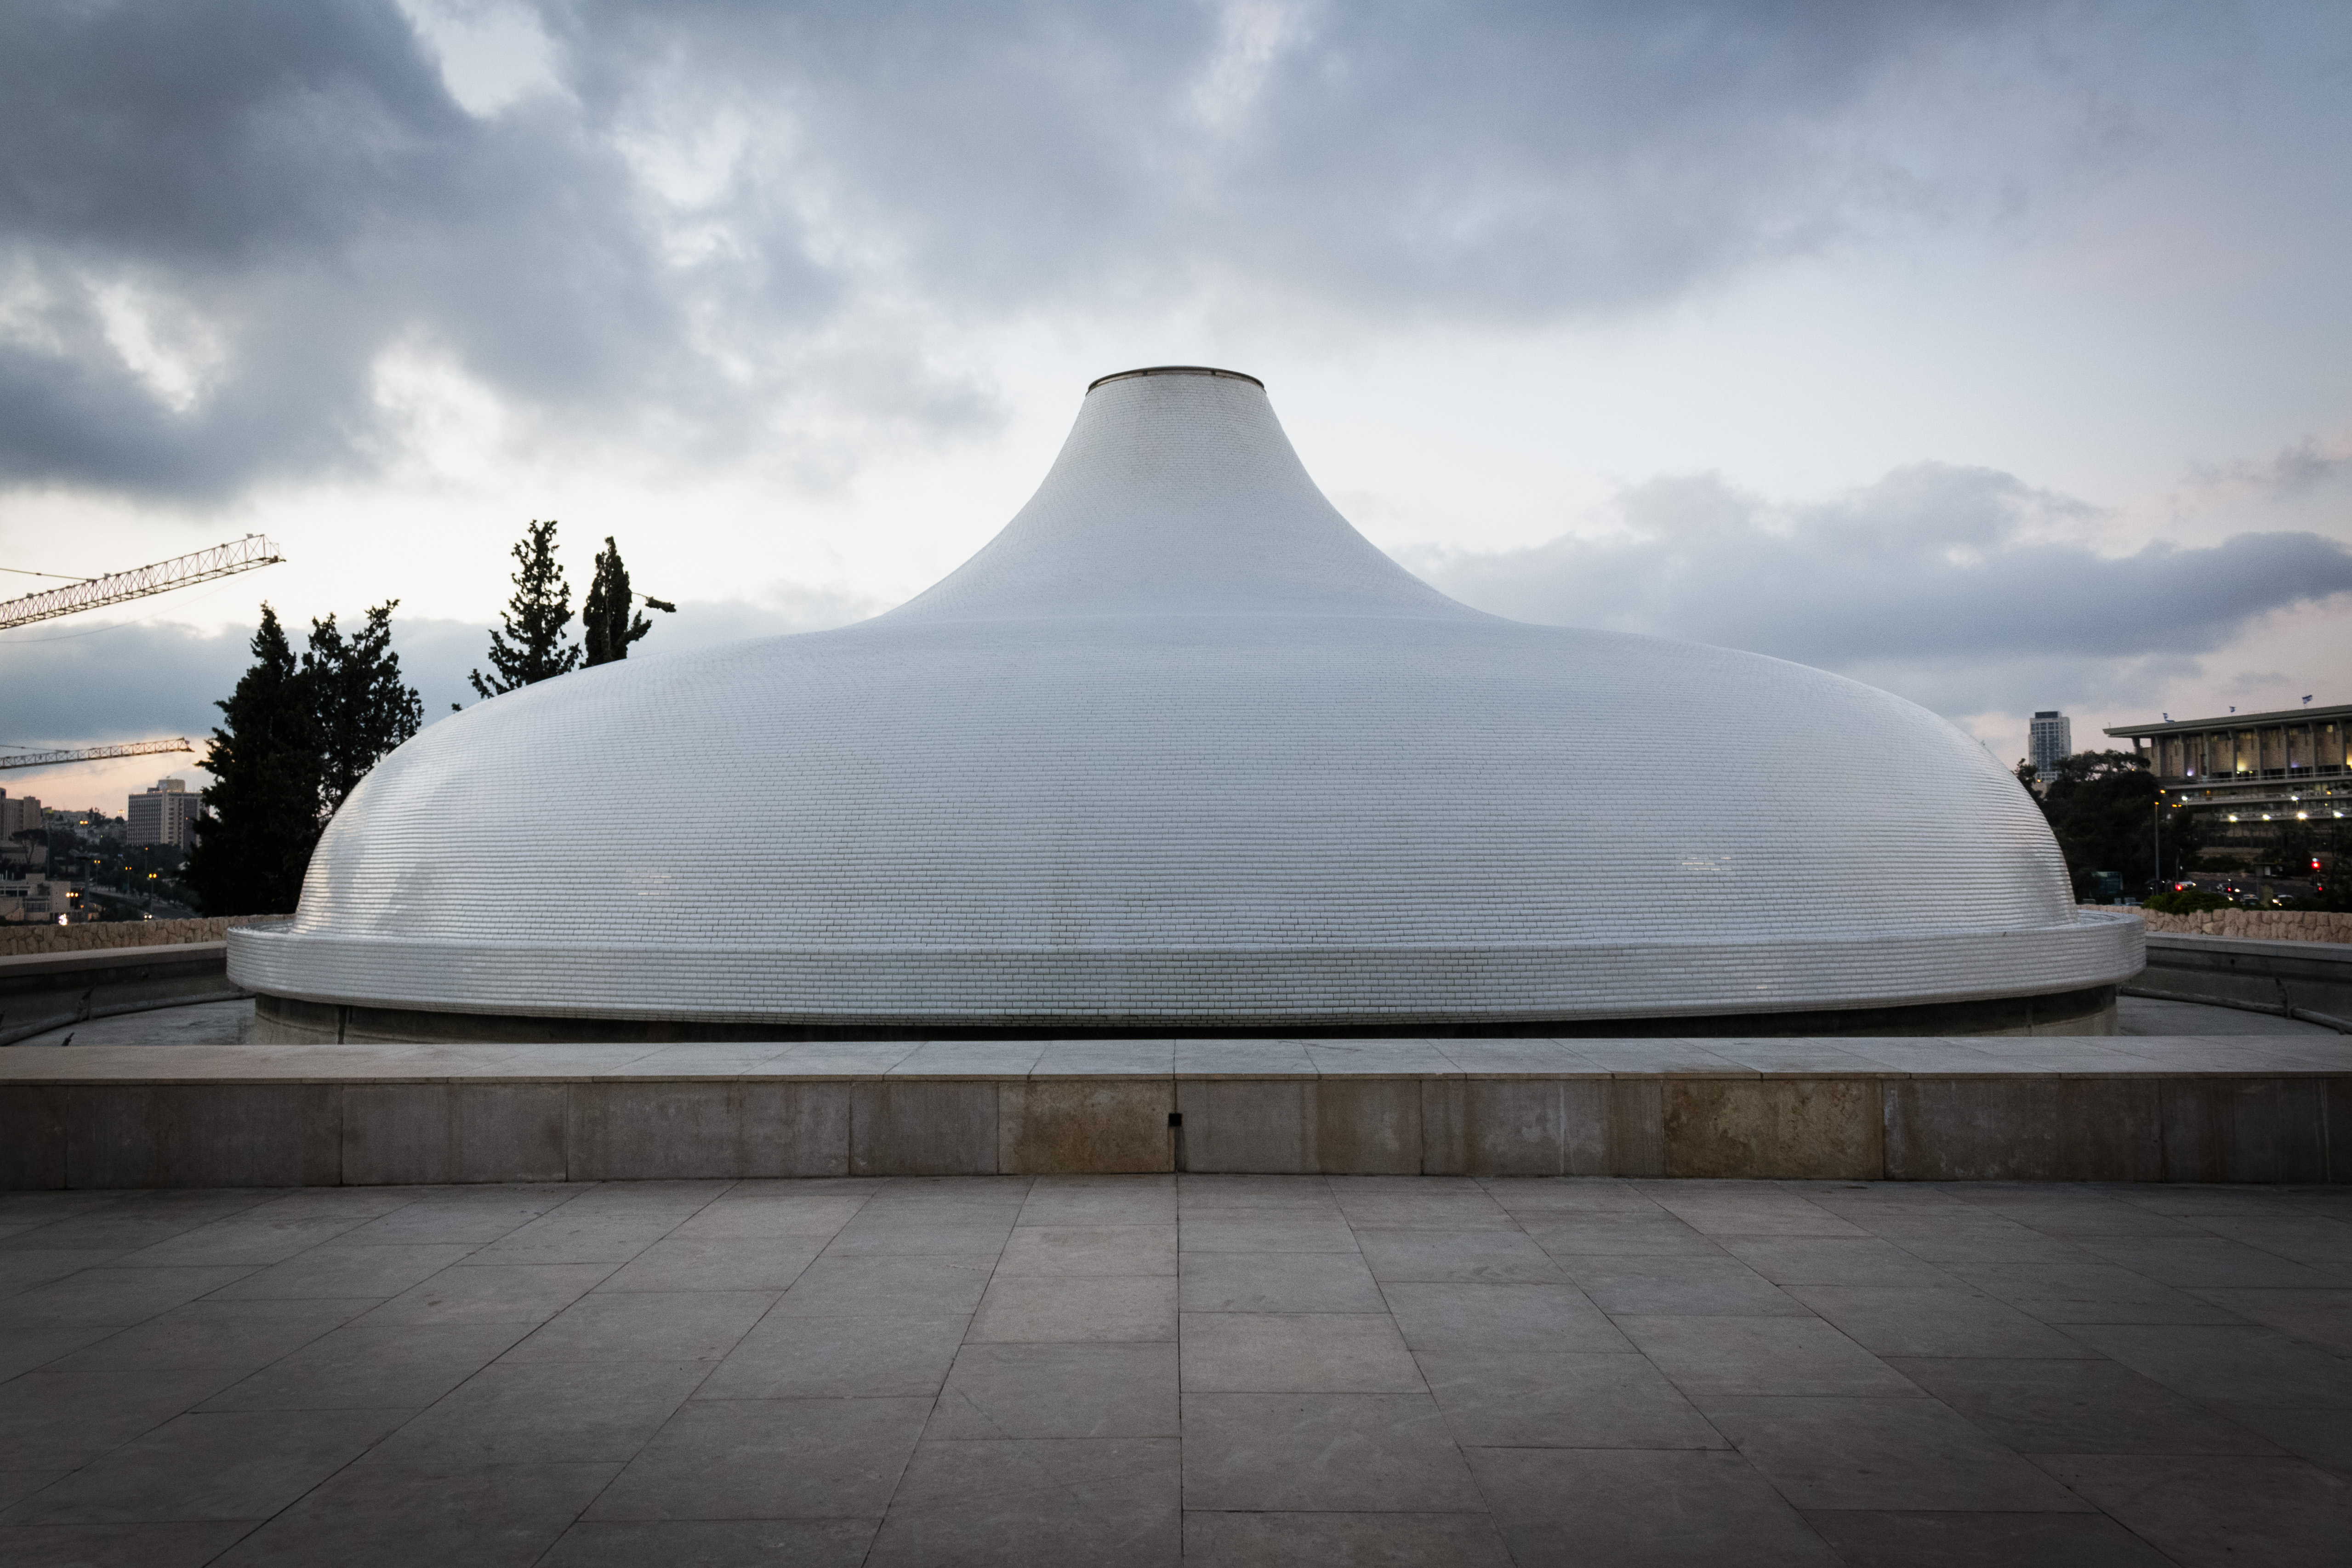
[[[2352,592],[2352,550],[2317,534],[2157,541],[2119,557],[2051,538],[2091,512],[2004,473],[1940,463],[1795,508],[1696,475],[1625,491],[1613,536],[1414,564],[1524,621],[1717,642],[1865,679],[1952,665],[1976,696],[1999,691],[2009,665],[2070,668],[2077,686],[2079,661],[2178,672],[2260,616]],[[1933,705],[1985,703],[1947,693]]]

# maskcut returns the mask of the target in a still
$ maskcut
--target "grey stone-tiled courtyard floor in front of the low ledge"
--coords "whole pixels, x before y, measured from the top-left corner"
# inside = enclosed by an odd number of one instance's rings
[[[0,1194],[0,1563],[2347,1563],[2352,1192]]]

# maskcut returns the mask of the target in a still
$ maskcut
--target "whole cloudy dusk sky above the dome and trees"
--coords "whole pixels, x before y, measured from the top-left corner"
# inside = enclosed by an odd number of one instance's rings
[[[2352,701],[2345,277],[2333,0],[5,7],[0,567],[289,562],[0,635],[0,743],[202,736],[263,597],[447,712],[532,517],[640,654],[837,625],[1164,362],[1472,604],[2004,759]]]

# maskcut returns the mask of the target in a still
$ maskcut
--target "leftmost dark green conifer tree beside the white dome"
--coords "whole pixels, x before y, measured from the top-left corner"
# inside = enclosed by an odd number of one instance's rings
[[[320,764],[310,682],[294,661],[278,611],[261,607],[254,665],[228,701],[214,703],[195,851],[186,882],[207,914],[282,914],[301,898],[318,844]]]

